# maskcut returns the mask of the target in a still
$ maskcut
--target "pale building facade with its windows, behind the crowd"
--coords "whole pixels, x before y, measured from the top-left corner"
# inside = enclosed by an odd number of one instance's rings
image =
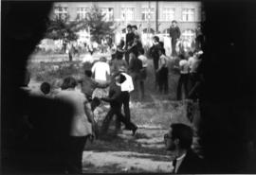
[[[169,36],[168,31],[173,20],[178,22],[182,38],[192,40],[195,28],[202,21],[200,2],[59,2],[55,3],[53,14],[60,17],[68,15],[70,20],[82,19],[93,5],[101,8],[106,21],[115,22],[116,41],[124,37],[125,28],[129,24],[137,25],[142,35],[151,33]]]

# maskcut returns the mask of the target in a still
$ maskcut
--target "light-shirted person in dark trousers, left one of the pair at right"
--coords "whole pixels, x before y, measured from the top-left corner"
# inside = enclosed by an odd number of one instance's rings
[[[181,99],[182,87],[184,87],[185,98],[189,96],[189,62],[183,55],[180,55],[179,57],[180,61],[178,69],[180,71],[180,77],[177,85],[177,100]]]

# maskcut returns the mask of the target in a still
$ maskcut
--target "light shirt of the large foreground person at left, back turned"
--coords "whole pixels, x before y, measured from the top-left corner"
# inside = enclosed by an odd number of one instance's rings
[[[56,98],[64,100],[72,105],[74,109],[71,116],[70,136],[86,136],[92,133],[92,125],[84,113],[84,102],[88,102],[86,97],[79,90],[67,89],[58,93]]]

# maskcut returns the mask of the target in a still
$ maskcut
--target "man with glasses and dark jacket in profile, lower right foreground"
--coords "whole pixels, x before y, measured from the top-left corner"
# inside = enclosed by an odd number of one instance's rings
[[[164,135],[167,149],[174,152],[173,173],[206,173],[203,160],[191,149],[192,135],[192,128],[181,123],[172,124]]]

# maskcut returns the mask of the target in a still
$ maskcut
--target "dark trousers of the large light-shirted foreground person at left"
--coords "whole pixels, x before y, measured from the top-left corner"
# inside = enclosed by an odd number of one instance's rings
[[[68,173],[82,173],[82,151],[86,136],[69,136],[65,146],[64,162]]]

